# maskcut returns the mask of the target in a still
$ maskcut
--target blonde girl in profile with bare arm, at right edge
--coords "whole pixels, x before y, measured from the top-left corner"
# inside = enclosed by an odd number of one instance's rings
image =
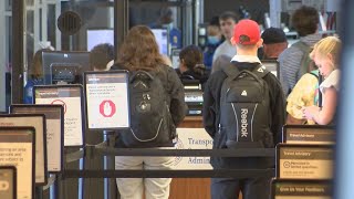
[[[341,45],[339,38],[327,36],[320,40],[310,54],[310,57],[319,66],[319,71],[324,77],[320,85],[323,106],[312,105],[302,108],[302,111],[305,119],[314,121],[319,125],[329,125],[334,121],[340,90],[339,55]]]

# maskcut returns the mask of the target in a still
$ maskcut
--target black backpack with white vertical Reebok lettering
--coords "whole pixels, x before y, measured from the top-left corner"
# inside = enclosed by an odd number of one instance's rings
[[[273,147],[270,130],[270,94],[263,77],[269,71],[261,64],[253,71],[239,71],[233,64],[222,71],[219,133],[227,148]],[[222,144],[223,143],[223,144]]]

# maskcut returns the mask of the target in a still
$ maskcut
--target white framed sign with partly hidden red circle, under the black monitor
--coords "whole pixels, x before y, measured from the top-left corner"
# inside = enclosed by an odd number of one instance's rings
[[[83,145],[82,90],[72,86],[34,86],[35,104],[60,104],[64,107],[64,146]]]

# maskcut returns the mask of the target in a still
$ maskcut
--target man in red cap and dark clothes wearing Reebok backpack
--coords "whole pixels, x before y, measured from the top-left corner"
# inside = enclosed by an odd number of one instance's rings
[[[231,43],[237,53],[231,63],[212,73],[204,92],[204,125],[214,138],[214,148],[272,148],[281,142],[284,124],[284,96],[278,78],[257,56],[263,40],[256,21],[241,20],[233,29]],[[211,157],[214,168],[266,169],[269,158]],[[212,178],[212,199],[268,199],[270,179]]]

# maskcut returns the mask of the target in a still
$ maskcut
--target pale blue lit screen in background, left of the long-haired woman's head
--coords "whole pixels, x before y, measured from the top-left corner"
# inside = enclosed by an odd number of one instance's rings
[[[87,32],[87,51],[91,51],[95,45],[110,43],[114,45],[113,29],[88,29]]]

